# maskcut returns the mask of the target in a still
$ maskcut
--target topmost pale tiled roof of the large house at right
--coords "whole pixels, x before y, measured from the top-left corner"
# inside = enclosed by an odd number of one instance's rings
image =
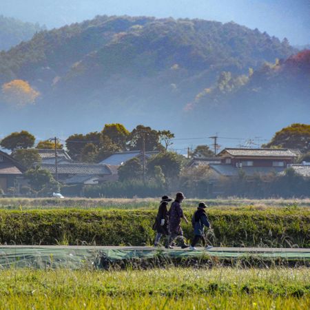
[[[296,157],[290,149],[223,149],[220,154],[227,152],[231,156],[255,156],[255,157]],[[220,155],[219,154],[219,155]]]

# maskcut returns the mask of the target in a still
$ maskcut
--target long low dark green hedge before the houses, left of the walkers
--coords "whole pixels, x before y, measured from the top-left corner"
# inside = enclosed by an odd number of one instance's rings
[[[148,181],[146,184],[142,180],[127,180],[124,182],[105,182],[101,185],[85,186],[83,194],[90,198],[132,198],[132,197],[159,197],[163,196],[165,188],[163,184]]]

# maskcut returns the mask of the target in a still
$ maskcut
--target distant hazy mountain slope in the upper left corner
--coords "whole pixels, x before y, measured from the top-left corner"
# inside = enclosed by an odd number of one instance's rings
[[[9,50],[21,41],[30,40],[36,32],[44,30],[38,23],[24,23],[0,15],[0,51]]]

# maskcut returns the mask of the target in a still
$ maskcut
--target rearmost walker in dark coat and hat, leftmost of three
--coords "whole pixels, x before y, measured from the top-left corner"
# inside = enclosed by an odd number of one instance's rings
[[[169,216],[167,205],[170,201],[172,201],[172,198],[169,198],[168,196],[163,196],[161,198],[161,205],[159,205],[158,207],[156,220],[153,225],[153,229],[156,230],[154,247],[158,246],[158,242],[163,235],[169,236],[169,230],[168,230]]]

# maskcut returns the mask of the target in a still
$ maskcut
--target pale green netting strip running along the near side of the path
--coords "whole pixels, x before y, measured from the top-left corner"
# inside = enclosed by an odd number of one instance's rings
[[[254,249],[254,248],[213,248],[205,251],[164,249],[152,247],[0,247],[0,269],[4,268],[100,268],[102,262],[131,260],[190,260],[203,258],[210,260],[249,259],[260,260],[303,260],[310,261],[310,249]]]

